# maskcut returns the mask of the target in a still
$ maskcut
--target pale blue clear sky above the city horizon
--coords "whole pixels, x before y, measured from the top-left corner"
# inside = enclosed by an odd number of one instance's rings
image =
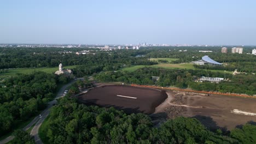
[[[256,1],[1,1],[0,43],[256,45]]]

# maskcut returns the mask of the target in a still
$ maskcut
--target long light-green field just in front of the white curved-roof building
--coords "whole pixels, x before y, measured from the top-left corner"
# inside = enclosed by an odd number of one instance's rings
[[[155,65],[135,65],[132,67],[123,68],[123,71],[135,71],[139,68],[143,67],[152,67],[152,68],[164,68],[164,69],[195,69],[193,64],[191,63],[179,63],[179,64],[171,64],[171,63],[161,63]],[[210,70],[210,69],[209,69]],[[210,70],[213,72],[220,72],[220,73],[229,73],[232,74],[232,71],[224,71],[224,70]]]

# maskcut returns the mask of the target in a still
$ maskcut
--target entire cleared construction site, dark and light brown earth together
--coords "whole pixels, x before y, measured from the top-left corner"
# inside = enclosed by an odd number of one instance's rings
[[[117,83],[97,83],[78,97],[84,104],[113,106],[126,113],[145,113],[155,124],[179,116],[193,117],[207,128],[230,130],[256,122],[256,97],[243,94]]]

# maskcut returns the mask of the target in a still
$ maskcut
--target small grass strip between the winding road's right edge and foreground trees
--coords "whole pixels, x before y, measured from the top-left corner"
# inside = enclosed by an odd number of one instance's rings
[[[39,130],[38,130],[38,135],[39,135],[40,139],[43,141],[43,143],[45,143],[45,144],[49,143],[48,137],[46,137],[46,134],[47,134],[47,131],[49,128],[49,117],[50,117],[50,115],[48,115],[44,119],[44,122],[42,123],[42,125],[39,127]]]

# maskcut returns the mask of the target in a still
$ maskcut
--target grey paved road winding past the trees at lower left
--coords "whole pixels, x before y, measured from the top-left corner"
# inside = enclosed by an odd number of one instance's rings
[[[49,101],[48,107],[47,107],[43,112],[40,113],[41,118],[40,118],[39,116],[35,117],[35,118],[33,119],[33,121],[31,121],[25,128],[23,128],[23,130],[26,131],[26,130],[28,130],[34,123],[37,122],[36,125],[34,125],[34,128],[31,130],[31,133],[30,133],[30,135],[34,136],[34,139],[35,139],[36,143],[43,143],[43,142],[40,140],[39,136],[38,136],[38,130],[39,130],[40,125],[43,123],[44,119],[49,115],[49,113],[50,113],[50,110],[49,110],[49,109],[50,109],[54,104],[57,103],[57,100],[56,100],[56,99],[59,99],[59,98],[65,96],[65,95],[64,95],[64,91],[66,90],[66,88],[69,87],[69,86],[71,86],[76,80],[82,80],[82,79],[83,79],[83,78],[78,78],[78,79],[75,79],[75,80],[69,82],[68,84],[64,85],[64,86],[59,90],[59,92],[57,93],[56,98],[55,98],[54,100],[52,100],[52,101]],[[11,136],[5,138],[4,140],[0,141],[0,144],[7,143],[7,142],[9,142],[9,141],[11,141],[11,140],[13,140],[13,139],[14,139],[14,136],[11,135]]]

